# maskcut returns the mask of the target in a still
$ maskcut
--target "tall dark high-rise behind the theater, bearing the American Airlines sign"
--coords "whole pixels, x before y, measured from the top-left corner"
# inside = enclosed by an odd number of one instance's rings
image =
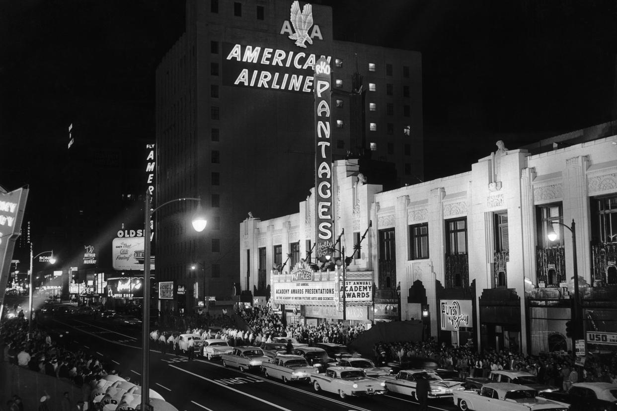
[[[297,1],[187,1],[186,32],[156,73],[157,204],[199,196],[209,214],[196,235],[183,219],[196,205],[157,211],[157,279],[184,285],[183,303],[231,295],[238,223],[291,213],[315,184],[322,55],[334,160],[394,163],[393,186],[423,179],[420,53],[337,41],[332,20]]]

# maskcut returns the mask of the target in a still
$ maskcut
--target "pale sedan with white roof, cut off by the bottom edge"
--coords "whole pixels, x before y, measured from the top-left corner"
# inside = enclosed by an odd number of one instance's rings
[[[488,383],[477,389],[454,391],[460,411],[568,411],[568,405],[536,397],[537,391],[512,383]]]

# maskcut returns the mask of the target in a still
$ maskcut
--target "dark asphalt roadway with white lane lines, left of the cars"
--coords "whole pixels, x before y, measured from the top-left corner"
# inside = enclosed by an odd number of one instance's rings
[[[89,315],[55,316],[46,325],[56,333],[68,335],[70,349],[81,349],[113,365],[123,377],[139,384],[141,380],[141,326],[125,325],[112,319],[93,319]],[[68,332],[68,334],[67,334]],[[386,394],[375,397],[347,397],[316,393],[309,383],[284,384],[259,372],[242,373],[225,368],[221,360],[196,356],[161,354],[154,346],[150,354],[150,387],[178,410],[357,410],[381,411],[418,409],[410,397]],[[430,402],[433,410],[452,411],[451,399]]]

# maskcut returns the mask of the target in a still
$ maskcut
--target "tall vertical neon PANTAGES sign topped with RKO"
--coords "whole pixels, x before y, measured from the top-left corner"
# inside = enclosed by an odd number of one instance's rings
[[[332,150],[330,147],[330,65],[315,63],[315,245],[317,257],[332,245]]]

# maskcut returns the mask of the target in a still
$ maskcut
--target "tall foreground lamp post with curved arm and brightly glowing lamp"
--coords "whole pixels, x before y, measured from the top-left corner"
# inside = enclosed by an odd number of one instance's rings
[[[143,304],[143,321],[142,321],[142,363],[141,363],[141,410],[147,411],[150,409],[150,380],[149,380],[149,362],[150,362],[150,221],[152,214],[169,203],[175,201],[197,201],[197,211],[193,216],[193,229],[197,232],[202,232],[207,224],[206,219],[201,210],[201,200],[199,198],[185,197],[175,198],[174,200],[166,201],[156,208],[150,208],[150,193],[146,192],[146,204],[144,205],[144,304]]]

